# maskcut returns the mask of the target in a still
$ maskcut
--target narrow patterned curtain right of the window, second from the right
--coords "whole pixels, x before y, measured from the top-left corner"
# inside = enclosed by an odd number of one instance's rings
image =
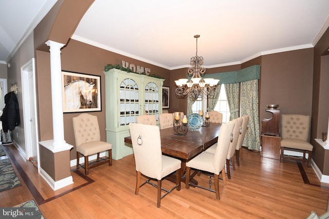
[[[230,121],[239,118],[239,83],[225,84],[228,106],[230,108]]]

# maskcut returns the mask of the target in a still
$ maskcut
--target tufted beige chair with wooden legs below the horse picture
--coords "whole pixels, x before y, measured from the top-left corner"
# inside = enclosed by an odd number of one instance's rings
[[[77,149],[77,168],[80,167],[79,159],[80,154],[84,156],[85,174],[89,174],[89,169],[97,167],[101,164],[108,162],[108,165],[112,165],[112,144],[100,141],[100,131],[98,125],[98,119],[96,115],[89,113],[82,113],[72,118],[74,136],[76,140]],[[100,152],[107,151],[108,157],[99,157]],[[96,162],[89,164],[89,155],[97,154]]]

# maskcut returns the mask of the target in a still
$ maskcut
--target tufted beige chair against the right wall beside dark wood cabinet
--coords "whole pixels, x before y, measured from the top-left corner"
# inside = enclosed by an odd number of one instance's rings
[[[284,158],[307,161],[310,167],[313,146],[307,142],[309,134],[309,115],[288,114],[281,117],[281,154],[280,161]],[[284,155],[284,149],[298,149],[303,151],[303,157]],[[306,151],[308,158],[306,160]]]

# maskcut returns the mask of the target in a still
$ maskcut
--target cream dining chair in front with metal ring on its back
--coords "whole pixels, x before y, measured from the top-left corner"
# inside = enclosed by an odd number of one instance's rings
[[[135,156],[135,164],[137,171],[135,194],[139,192],[139,188],[145,184],[151,184],[157,187],[157,207],[160,207],[161,198],[165,197],[175,188],[180,190],[180,168],[181,161],[162,155],[160,130],[158,126],[130,123],[129,130],[132,138],[133,151]],[[176,171],[176,185],[167,190],[161,187],[163,178]],[[140,185],[141,174],[149,179]],[[157,185],[151,183],[156,180]],[[161,196],[161,191],[166,191]]]

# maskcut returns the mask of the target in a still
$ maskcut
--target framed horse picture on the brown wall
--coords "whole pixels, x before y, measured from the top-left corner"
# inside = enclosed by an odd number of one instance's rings
[[[101,108],[101,77],[62,70],[63,112],[93,112]]]

